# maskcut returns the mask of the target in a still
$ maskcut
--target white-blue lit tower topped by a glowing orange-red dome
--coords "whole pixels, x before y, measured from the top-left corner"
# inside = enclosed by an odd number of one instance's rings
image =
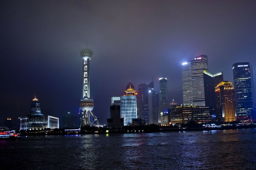
[[[129,82],[126,86],[126,91],[121,96],[121,118],[124,118],[124,125],[132,124],[132,119],[137,116],[137,92],[134,90],[134,85]]]

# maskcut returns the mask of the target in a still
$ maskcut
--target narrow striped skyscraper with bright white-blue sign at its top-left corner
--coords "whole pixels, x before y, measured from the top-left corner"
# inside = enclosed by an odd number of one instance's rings
[[[193,105],[191,63],[183,62],[181,68],[183,105]]]

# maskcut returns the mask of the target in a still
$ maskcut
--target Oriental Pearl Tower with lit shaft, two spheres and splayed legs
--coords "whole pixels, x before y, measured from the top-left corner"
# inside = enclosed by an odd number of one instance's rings
[[[90,99],[90,59],[93,57],[93,51],[89,48],[83,48],[80,52],[83,59],[83,99],[80,101],[80,108],[84,112],[81,125],[94,126],[99,125],[99,121],[95,114],[92,112],[94,108],[94,101]],[[91,120],[91,116],[93,119]]]

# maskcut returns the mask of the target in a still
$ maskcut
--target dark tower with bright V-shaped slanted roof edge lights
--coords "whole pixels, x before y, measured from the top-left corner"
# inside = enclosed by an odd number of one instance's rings
[[[223,81],[223,73],[212,74],[204,70],[204,99],[205,106],[215,109],[215,87]]]

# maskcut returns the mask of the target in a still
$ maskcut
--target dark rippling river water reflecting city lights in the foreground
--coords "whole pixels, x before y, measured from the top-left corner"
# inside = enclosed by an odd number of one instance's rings
[[[0,141],[0,170],[254,170],[256,129],[22,136]]]

